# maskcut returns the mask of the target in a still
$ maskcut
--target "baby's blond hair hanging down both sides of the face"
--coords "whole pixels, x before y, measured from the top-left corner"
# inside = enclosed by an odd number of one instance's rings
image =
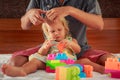
[[[62,25],[63,25],[63,27],[65,29],[66,36],[70,36],[69,28],[68,28],[68,21],[65,18],[60,18],[59,21],[61,21],[61,23],[62,23]],[[46,23],[46,22],[42,24],[42,30],[43,30],[43,33],[45,34],[46,39],[49,39],[49,34],[48,34],[48,29],[47,29],[48,25],[49,24]]]

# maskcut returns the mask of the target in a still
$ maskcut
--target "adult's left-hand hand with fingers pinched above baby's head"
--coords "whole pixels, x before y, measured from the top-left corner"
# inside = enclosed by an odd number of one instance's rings
[[[46,12],[41,9],[31,9],[29,10],[26,15],[28,16],[30,22],[33,25],[39,25],[44,22],[44,19],[41,17],[40,14],[45,14]]]

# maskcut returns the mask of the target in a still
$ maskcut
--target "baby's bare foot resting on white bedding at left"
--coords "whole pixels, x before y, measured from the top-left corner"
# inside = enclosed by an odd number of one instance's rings
[[[16,77],[16,76],[26,76],[27,74],[20,67],[11,66],[8,64],[2,65],[2,72],[8,76]]]

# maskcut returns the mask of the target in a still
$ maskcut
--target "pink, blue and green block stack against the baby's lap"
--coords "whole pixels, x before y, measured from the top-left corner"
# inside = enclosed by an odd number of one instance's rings
[[[54,72],[57,66],[74,64],[75,60],[69,59],[65,53],[48,54],[46,61],[46,72]]]

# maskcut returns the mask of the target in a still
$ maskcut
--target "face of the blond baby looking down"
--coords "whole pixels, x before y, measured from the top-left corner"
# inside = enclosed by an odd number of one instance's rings
[[[56,21],[47,25],[48,34],[50,39],[61,41],[65,38],[65,28],[60,21]]]

